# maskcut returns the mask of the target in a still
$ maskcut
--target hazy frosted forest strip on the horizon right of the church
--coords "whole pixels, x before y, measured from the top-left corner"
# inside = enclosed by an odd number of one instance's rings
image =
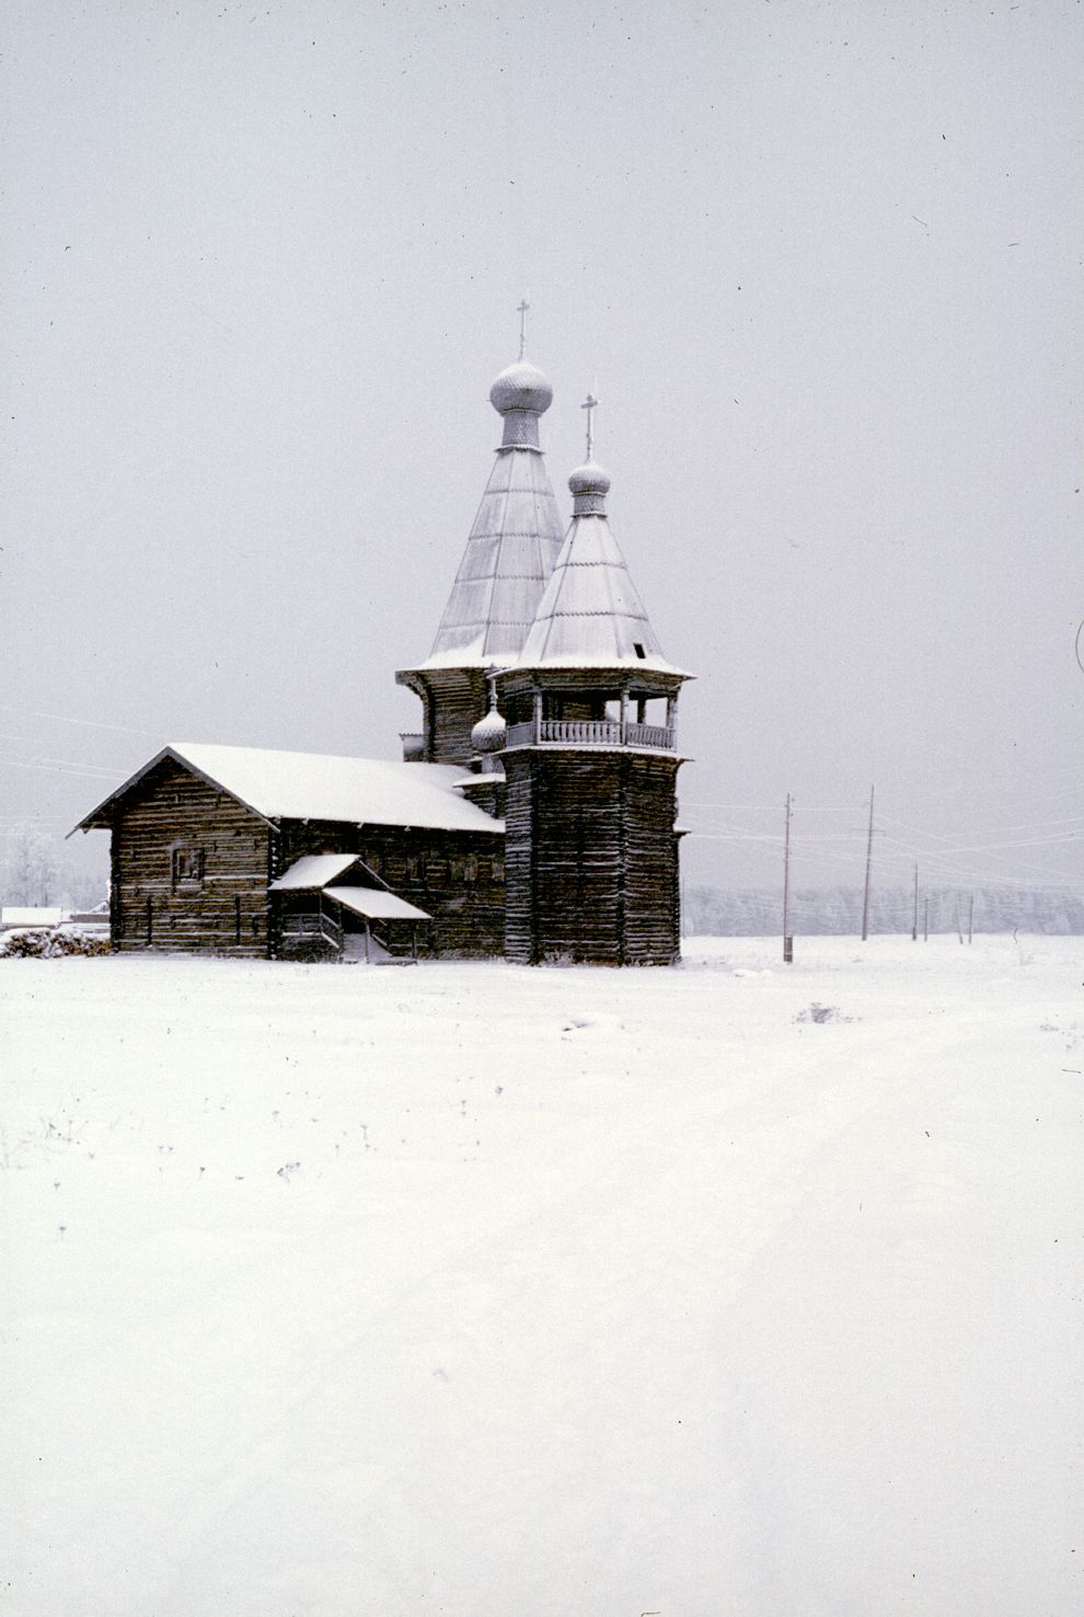
[[[974,931],[1084,933],[1084,896],[1060,888],[929,888],[919,891],[918,931],[968,935],[974,901]],[[876,888],[869,894],[869,931],[911,936],[914,891]],[[801,888],[790,894],[793,936],[861,935],[861,888]],[[782,933],[782,893],[764,888],[695,888],[683,893],[682,931],[688,938],[769,938]]]

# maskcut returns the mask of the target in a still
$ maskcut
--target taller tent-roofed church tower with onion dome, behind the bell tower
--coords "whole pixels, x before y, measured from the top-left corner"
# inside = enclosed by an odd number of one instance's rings
[[[519,359],[489,388],[504,433],[433,650],[396,674],[422,699],[422,731],[402,737],[407,760],[470,762],[488,676],[519,657],[561,551],[561,516],[538,435],[553,388],[527,359],[527,309],[522,302]]]

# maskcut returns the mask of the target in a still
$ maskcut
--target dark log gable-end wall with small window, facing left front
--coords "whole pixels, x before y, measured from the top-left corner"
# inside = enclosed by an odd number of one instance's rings
[[[267,865],[267,821],[165,758],[115,808],[113,948],[265,956]]]

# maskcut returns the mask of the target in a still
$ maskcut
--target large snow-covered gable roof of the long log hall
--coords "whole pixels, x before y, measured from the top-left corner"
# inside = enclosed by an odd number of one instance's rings
[[[191,768],[265,820],[339,820],[431,831],[486,831],[494,836],[504,831],[501,820],[493,820],[459,796],[456,781],[462,768],[456,763],[389,763],[383,758],[187,741],[163,747],[76,830],[108,825],[107,808],[165,758]]]

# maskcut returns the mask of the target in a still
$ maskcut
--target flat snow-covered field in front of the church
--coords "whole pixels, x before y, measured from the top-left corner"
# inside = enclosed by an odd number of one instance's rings
[[[796,951],[2,962],[0,1611],[1084,1611],[1084,944]]]

